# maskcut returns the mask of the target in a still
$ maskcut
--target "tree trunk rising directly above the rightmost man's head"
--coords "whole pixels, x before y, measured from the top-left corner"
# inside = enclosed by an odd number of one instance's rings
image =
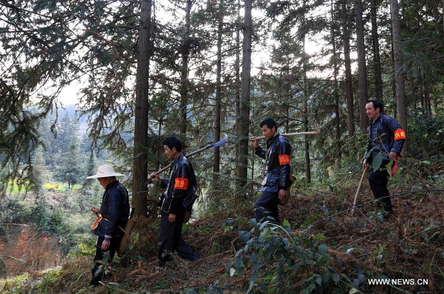
[[[373,49],[373,71],[374,71],[374,87],[375,97],[383,102],[382,97],[382,77],[381,77],[381,57],[379,55],[379,36],[378,25],[376,21],[376,0],[371,0],[371,46]]]

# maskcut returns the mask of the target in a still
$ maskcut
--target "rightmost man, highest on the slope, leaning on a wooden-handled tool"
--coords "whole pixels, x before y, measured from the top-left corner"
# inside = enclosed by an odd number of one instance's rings
[[[374,198],[378,199],[384,207],[384,216],[388,216],[392,213],[393,208],[390,197],[388,197],[390,194],[387,189],[387,182],[390,175],[387,171],[387,165],[390,161],[396,160],[401,154],[403,144],[406,141],[406,132],[393,118],[382,115],[383,110],[384,106],[377,100],[370,100],[366,104],[366,113],[370,122],[363,168],[370,167],[367,163],[373,165],[374,159],[377,157],[382,158],[379,168],[376,171],[371,169],[369,183]]]

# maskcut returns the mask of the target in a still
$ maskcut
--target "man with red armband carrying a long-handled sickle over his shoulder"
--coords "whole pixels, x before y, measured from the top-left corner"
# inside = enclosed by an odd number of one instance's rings
[[[166,156],[173,160],[169,178],[160,178],[152,173],[150,177],[160,183],[165,192],[160,206],[160,230],[158,243],[159,266],[164,267],[172,259],[174,250],[184,259],[197,260],[198,256],[182,239],[184,224],[184,200],[193,193],[196,186],[194,170],[182,154],[182,142],[176,137],[167,137],[162,142]]]

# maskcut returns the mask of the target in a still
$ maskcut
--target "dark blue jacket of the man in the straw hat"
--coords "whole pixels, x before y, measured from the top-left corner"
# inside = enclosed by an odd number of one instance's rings
[[[105,193],[103,193],[102,205],[100,206],[100,213],[104,219],[99,222],[99,225],[94,230],[94,235],[100,237],[105,237],[105,235],[113,237],[122,236],[123,232],[118,226],[122,229],[125,228],[129,210],[128,191],[126,188],[119,181],[109,183]]]

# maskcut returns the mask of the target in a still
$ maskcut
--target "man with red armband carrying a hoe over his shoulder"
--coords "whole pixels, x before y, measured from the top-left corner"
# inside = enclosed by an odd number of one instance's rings
[[[260,123],[262,135],[267,139],[267,150],[259,146],[255,137],[250,138],[256,154],[265,159],[265,174],[259,189],[262,194],[255,203],[256,219],[266,220],[272,217],[280,223],[278,203],[290,193],[290,158],[292,146],[288,140],[277,131],[276,122],[266,119]]]

